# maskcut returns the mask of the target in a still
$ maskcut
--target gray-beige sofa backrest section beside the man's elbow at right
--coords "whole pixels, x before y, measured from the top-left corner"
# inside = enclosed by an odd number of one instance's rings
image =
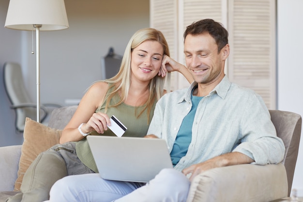
[[[283,140],[285,145],[285,155],[282,163],[286,168],[288,178],[288,196],[290,196],[293,175],[299,152],[302,118],[299,114],[293,112],[281,110],[269,111],[272,117],[272,122],[277,131],[277,136]]]

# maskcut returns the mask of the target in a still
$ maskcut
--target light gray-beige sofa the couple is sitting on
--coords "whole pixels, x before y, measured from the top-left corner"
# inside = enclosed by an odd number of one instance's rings
[[[76,106],[55,109],[49,126],[62,129]],[[290,194],[301,135],[301,116],[270,110],[277,134],[286,154],[276,165],[253,164],[216,168],[198,175],[192,182],[187,202],[282,202]],[[21,145],[0,147],[0,202],[14,195]]]

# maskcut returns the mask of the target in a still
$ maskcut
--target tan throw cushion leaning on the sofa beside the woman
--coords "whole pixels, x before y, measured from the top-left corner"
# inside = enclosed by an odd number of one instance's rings
[[[19,161],[18,177],[15,181],[15,191],[20,190],[25,171],[29,168],[31,162],[41,152],[58,144],[62,130],[54,129],[44,124],[26,118],[23,132],[23,144]]]

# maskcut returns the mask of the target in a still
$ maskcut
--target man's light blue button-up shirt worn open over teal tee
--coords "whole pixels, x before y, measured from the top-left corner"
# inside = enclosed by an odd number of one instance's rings
[[[171,152],[183,118],[192,107],[193,82],[187,89],[165,94],[156,104],[147,134],[167,141]],[[175,169],[229,152],[241,152],[264,165],[279,163],[285,152],[283,141],[263,99],[253,90],[231,83],[227,76],[198,104],[187,154]]]

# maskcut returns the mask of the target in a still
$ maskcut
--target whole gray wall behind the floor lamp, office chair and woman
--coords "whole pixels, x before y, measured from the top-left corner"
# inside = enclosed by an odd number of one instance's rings
[[[15,113],[3,87],[4,62],[22,65],[26,87],[36,102],[36,55],[31,31],[4,28],[9,0],[0,1],[0,146],[21,144]],[[149,0],[65,0],[70,28],[40,32],[41,103],[80,99],[101,79],[101,57],[109,47],[123,55],[135,31],[149,27]],[[34,32],[35,49],[35,32]]]

